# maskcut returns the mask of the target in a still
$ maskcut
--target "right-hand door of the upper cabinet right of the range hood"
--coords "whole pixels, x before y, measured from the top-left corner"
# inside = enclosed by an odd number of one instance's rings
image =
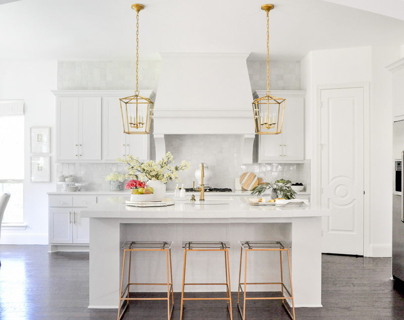
[[[304,160],[304,100],[286,99],[282,127],[282,160]]]

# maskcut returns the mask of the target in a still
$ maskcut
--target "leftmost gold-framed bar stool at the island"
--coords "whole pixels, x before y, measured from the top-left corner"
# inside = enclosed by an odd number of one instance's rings
[[[123,263],[122,263],[122,277],[121,277],[121,290],[119,293],[119,305],[118,305],[118,320],[120,320],[129,305],[129,300],[167,300],[167,319],[170,320],[171,314],[174,308],[174,291],[173,291],[173,271],[171,268],[171,246],[173,242],[165,241],[126,241],[122,248],[123,252]],[[129,251],[129,272],[128,272],[128,284],[122,291],[123,287],[123,276],[125,271],[125,258],[126,252]],[[130,282],[130,266],[132,262],[132,251],[160,251],[166,252],[167,257],[167,283],[131,283]],[[170,276],[170,279],[169,279]],[[171,282],[170,282],[171,280]],[[167,286],[167,298],[130,298],[130,286]],[[125,293],[128,292],[127,296],[124,298]],[[172,306],[170,307],[170,293],[172,298]],[[121,302],[126,300],[127,303],[121,312]]]

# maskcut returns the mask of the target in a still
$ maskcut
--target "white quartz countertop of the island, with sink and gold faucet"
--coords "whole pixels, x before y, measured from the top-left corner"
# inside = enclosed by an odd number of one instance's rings
[[[141,218],[141,219],[215,219],[215,218],[294,218],[329,216],[330,210],[316,205],[250,205],[247,197],[206,200],[204,204],[189,199],[175,201],[161,207],[135,207],[125,205],[129,197],[111,197],[106,201],[81,209],[81,217],[88,218]]]

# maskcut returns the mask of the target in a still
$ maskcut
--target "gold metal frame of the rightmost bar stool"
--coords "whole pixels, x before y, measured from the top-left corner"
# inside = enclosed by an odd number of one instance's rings
[[[244,243],[252,243],[254,244],[254,242],[252,241],[245,241]],[[268,241],[269,242],[269,241]],[[242,265],[242,255],[243,255],[243,244],[241,243],[241,253],[240,253],[240,272],[238,275],[238,294],[237,294],[237,307],[238,307],[238,311],[240,312],[241,315],[241,319],[245,320],[245,302],[246,300],[280,300],[282,299],[282,306],[284,307],[284,309],[286,310],[287,314],[290,316],[290,318],[292,320],[295,320],[295,313],[294,313],[294,299],[293,299],[293,286],[292,286],[292,273],[290,270],[290,255],[289,255],[289,248],[285,248],[282,246],[280,241],[274,241],[275,243],[279,243],[280,247],[279,248],[257,248],[254,249],[252,247],[246,247],[245,248],[245,266],[244,266],[244,282],[241,282],[241,265]],[[261,243],[265,243],[265,241],[262,241]],[[281,265],[281,282],[246,282],[247,281],[247,252],[248,251],[279,251],[279,256],[280,256],[280,265]],[[286,288],[286,286],[283,283],[283,268],[282,268],[282,251],[286,251],[287,252],[287,259],[288,259],[288,265],[289,265],[289,279],[290,279],[290,292],[289,290]],[[244,285],[244,290],[242,289],[241,285]],[[267,298],[247,298],[247,285],[281,285],[282,288],[282,297],[267,297]],[[285,290],[290,297],[285,297],[284,296],[284,291]],[[244,297],[244,301],[243,301],[243,310],[241,310],[240,307],[240,291],[243,294]],[[285,300],[286,299],[291,299],[292,300],[292,313],[293,315],[290,313],[289,309],[287,308],[287,306],[285,305]]]

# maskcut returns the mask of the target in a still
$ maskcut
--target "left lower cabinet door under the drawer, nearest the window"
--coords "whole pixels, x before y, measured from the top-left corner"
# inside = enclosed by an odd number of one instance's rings
[[[73,243],[72,208],[49,208],[49,243]]]

